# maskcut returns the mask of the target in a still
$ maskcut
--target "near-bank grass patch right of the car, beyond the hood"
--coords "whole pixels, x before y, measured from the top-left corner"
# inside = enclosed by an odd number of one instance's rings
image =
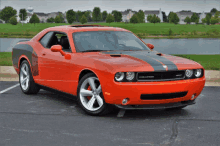
[[[220,70],[220,55],[175,55],[201,64],[206,70]]]

